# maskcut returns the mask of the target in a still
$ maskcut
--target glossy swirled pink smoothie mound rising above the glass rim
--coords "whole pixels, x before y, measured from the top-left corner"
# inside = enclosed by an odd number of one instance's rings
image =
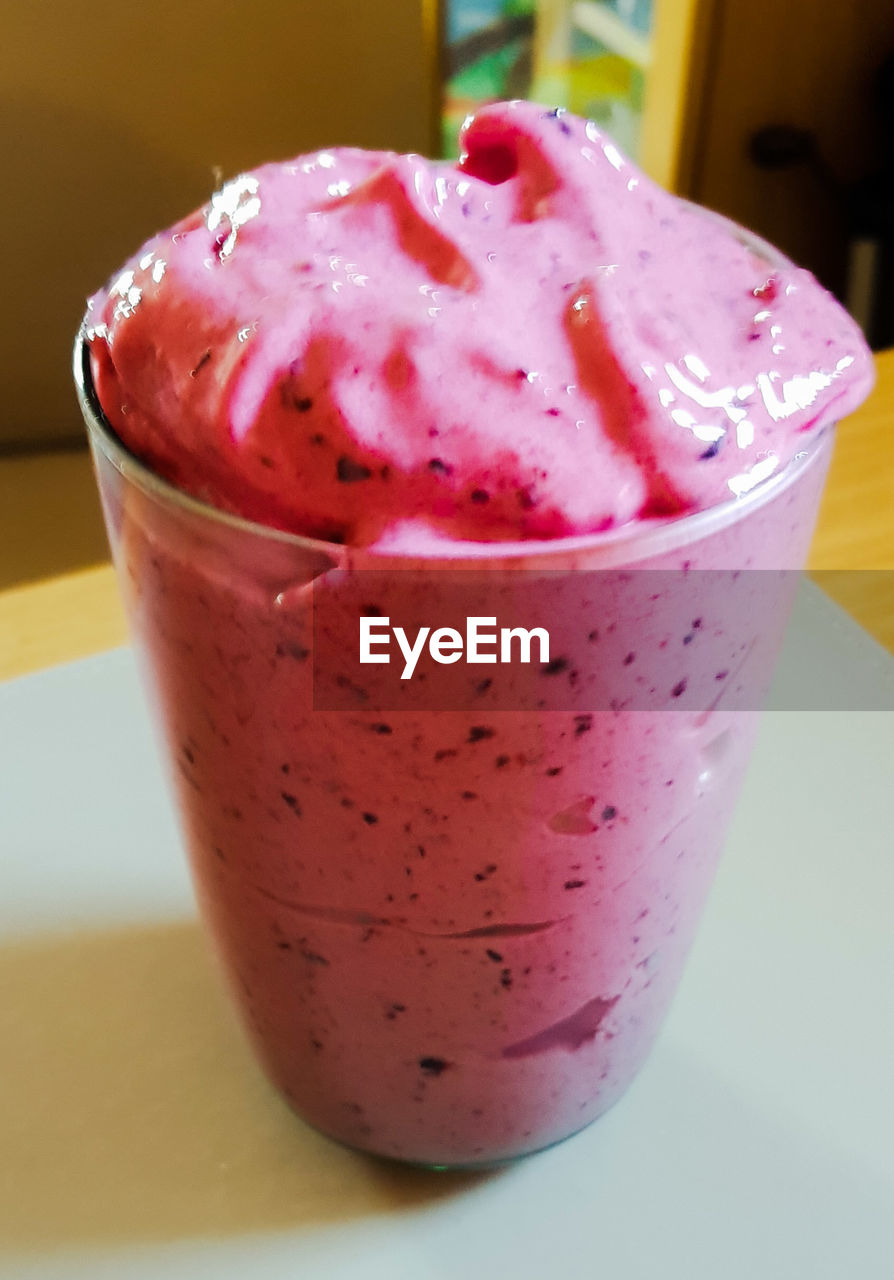
[[[236,178],[91,301],[122,440],[207,502],[352,544],[678,516],[867,394],[835,300],[592,122],[466,122],[459,164],[320,151]]]

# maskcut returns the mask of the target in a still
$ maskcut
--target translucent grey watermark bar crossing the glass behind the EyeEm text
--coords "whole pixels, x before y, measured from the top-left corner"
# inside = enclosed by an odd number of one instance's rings
[[[758,710],[803,591],[788,570],[337,570],[313,586],[314,708]],[[771,705],[894,708],[884,657],[862,691],[777,680]]]

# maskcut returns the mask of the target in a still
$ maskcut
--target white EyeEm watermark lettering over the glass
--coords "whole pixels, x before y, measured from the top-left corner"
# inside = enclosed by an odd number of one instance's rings
[[[493,630],[488,630],[493,628]],[[391,618],[360,618],[360,662],[391,662],[391,640],[403,655],[401,680],[411,680],[425,646],[435,662],[447,667],[465,659],[467,663],[539,663],[549,662],[549,632],[546,627],[500,627],[496,617],[466,618],[465,636],[456,627],[419,627],[412,640],[403,627],[392,627]],[[538,655],[532,658],[537,640]],[[373,652],[375,650],[375,652]]]

